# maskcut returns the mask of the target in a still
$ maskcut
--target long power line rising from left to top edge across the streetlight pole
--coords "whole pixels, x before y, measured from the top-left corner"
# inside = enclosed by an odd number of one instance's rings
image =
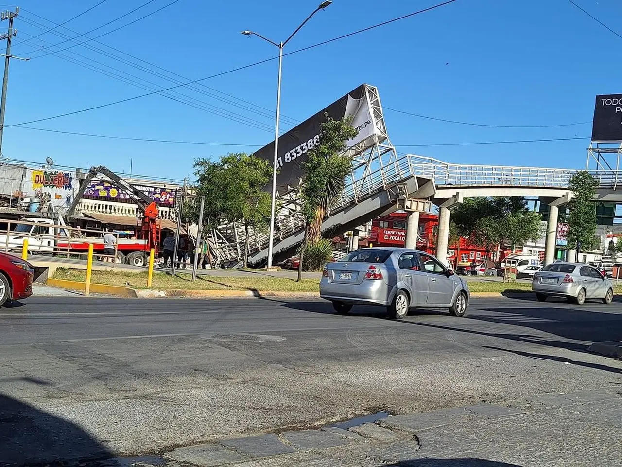
[[[340,37],[335,37],[333,39],[325,40],[323,42],[319,42],[318,44],[309,45],[309,47],[304,47],[303,49],[292,50],[292,52],[287,52],[287,54],[283,54],[283,56],[297,54],[298,52],[302,52],[304,50],[313,49],[314,47],[319,47],[320,45],[328,44],[330,42],[334,42],[335,40],[340,40],[340,39],[344,39],[345,37],[350,37],[350,36],[355,35],[355,34],[360,34],[361,32],[366,32],[366,31],[369,31],[369,30],[374,29],[376,27],[384,26],[386,24],[389,24],[389,23],[392,23],[392,22],[395,22],[395,21],[399,21],[399,20],[407,18],[407,17],[414,16],[416,14],[420,14],[420,13],[423,13],[423,12],[431,11],[433,9],[445,6],[445,5],[453,3],[455,1],[457,1],[457,0],[448,0],[446,2],[439,3],[439,4],[435,5],[435,6],[427,7],[425,9],[422,9],[422,10],[419,10],[419,11],[415,11],[415,12],[412,12],[410,14],[407,14],[407,15],[404,15],[404,16],[401,16],[401,17],[398,17],[398,18],[395,18],[395,19],[391,19],[389,21],[381,22],[381,23],[376,24],[374,26],[369,26],[369,27],[366,27],[364,29],[360,29],[360,30],[355,31],[355,32],[350,32],[349,34],[341,35]],[[59,50],[59,52],[60,52],[60,50]],[[143,97],[151,96],[151,95],[158,94],[158,93],[161,93],[161,92],[170,91],[172,89],[176,89],[176,88],[180,88],[180,87],[185,87],[185,86],[190,85],[190,84],[203,82],[205,80],[209,80],[209,79],[212,79],[212,78],[217,78],[217,77],[220,77],[220,76],[223,76],[223,75],[227,75],[229,73],[234,73],[234,72],[238,72],[238,71],[241,71],[241,70],[246,70],[246,68],[255,67],[257,65],[261,65],[261,64],[264,64],[264,63],[267,63],[267,62],[271,62],[272,60],[276,60],[278,58],[279,57],[271,57],[269,59],[259,60],[258,62],[254,62],[254,63],[248,64],[248,65],[243,65],[242,67],[232,68],[231,70],[227,70],[225,72],[216,73],[215,75],[211,75],[211,76],[208,76],[208,77],[205,77],[205,78],[199,78],[198,80],[193,80],[193,81],[190,81],[190,82],[187,82],[187,83],[182,83],[182,84],[175,85],[175,86],[172,86],[172,87],[169,87],[169,88],[164,88],[164,89],[161,89],[159,91],[154,91],[154,92],[150,92],[150,93],[146,93],[146,94],[141,94],[139,96],[128,97],[128,98],[121,99],[121,100],[118,100],[118,101],[109,102],[107,104],[96,105],[96,106],[85,108],[85,109],[82,109],[82,110],[76,110],[76,111],[73,111],[73,112],[63,113],[63,114],[60,114],[60,115],[55,115],[55,116],[51,116],[51,117],[47,117],[47,118],[39,118],[37,120],[24,121],[22,123],[17,123],[15,125],[5,125],[5,126],[29,125],[30,123],[37,123],[39,121],[52,120],[53,118],[60,118],[60,117],[63,117],[63,116],[76,115],[78,113],[88,112],[88,111],[91,111],[91,110],[97,110],[97,109],[100,109],[100,108],[109,107],[111,105],[116,105],[116,104],[120,104],[120,103],[124,103],[124,102],[129,102],[129,101],[132,101],[132,100],[136,100],[136,99],[140,99],[140,98],[143,98]]]

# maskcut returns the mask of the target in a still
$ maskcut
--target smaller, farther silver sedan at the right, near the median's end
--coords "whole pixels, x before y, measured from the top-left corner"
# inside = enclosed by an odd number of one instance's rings
[[[580,305],[586,298],[613,301],[613,282],[585,263],[550,263],[534,274],[531,290],[539,301],[549,296],[565,297]]]

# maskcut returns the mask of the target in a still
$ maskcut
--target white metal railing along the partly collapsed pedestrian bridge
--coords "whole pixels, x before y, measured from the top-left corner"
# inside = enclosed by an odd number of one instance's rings
[[[565,188],[570,177],[577,172],[573,169],[554,169],[543,167],[513,167],[475,164],[449,164],[439,159],[407,154],[396,161],[370,172],[346,185],[337,203],[330,209],[334,214],[349,205],[357,204],[369,196],[406,181],[412,176],[434,180],[437,186],[513,186]],[[622,171],[590,171],[598,179],[600,187],[616,189],[622,186]],[[302,229],[304,220],[299,213],[279,219],[281,230],[279,238],[288,237]],[[252,235],[250,252],[266,247],[266,233]],[[220,245],[218,253],[228,260],[236,258],[238,251],[244,251],[244,242]]]

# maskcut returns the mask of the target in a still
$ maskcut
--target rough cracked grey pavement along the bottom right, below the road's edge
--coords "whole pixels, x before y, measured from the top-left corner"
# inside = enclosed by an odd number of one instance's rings
[[[177,448],[152,462],[168,461],[169,467],[615,467],[622,466],[621,395],[615,387],[541,394],[514,407],[480,403],[355,426],[215,440]]]

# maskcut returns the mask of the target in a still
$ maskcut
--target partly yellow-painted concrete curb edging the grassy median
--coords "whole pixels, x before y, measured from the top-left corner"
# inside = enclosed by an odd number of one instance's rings
[[[65,279],[48,279],[47,285],[68,289],[84,290],[84,283],[69,281]],[[163,298],[163,297],[185,297],[185,298],[319,298],[318,292],[270,292],[258,290],[146,290],[133,289],[118,285],[104,285],[91,283],[91,292],[114,295],[124,298]],[[531,291],[513,291],[507,294],[524,295]],[[508,295],[501,292],[473,292],[474,298],[508,298]]]

